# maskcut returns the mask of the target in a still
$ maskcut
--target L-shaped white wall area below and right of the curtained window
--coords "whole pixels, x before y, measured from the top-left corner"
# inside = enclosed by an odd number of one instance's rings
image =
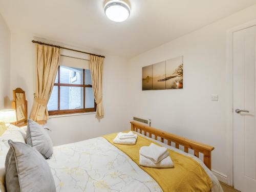
[[[70,143],[129,129],[127,61],[105,55],[103,67],[104,118],[95,114],[51,118],[47,125],[54,144]],[[61,134],[60,134],[61,133]]]

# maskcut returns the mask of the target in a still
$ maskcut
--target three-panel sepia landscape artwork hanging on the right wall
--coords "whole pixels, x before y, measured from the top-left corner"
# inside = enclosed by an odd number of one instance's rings
[[[142,68],[142,90],[183,89],[183,56]]]

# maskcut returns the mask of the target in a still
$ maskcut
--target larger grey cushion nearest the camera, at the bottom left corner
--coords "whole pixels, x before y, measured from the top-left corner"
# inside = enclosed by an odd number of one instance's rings
[[[8,141],[10,149],[5,160],[6,189],[8,192],[55,192],[51,169],[45,158],[33,147]]]

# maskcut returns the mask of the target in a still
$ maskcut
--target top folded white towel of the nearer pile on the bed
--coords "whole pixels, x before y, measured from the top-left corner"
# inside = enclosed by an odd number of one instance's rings
[[[151,143],[150,146],[142,146],[140,155],[150,159],[153,163],[159,163],[162,159],[169,155],[167,148]]]

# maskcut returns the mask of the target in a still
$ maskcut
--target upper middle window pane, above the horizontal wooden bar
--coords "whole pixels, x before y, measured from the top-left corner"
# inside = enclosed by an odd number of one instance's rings
[[[60,83],[82,84],[82,69],[60,66]]]

